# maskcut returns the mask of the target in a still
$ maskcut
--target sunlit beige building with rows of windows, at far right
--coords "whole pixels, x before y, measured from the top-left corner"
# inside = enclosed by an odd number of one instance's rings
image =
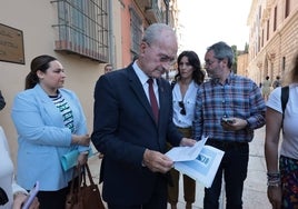
[[[280,76],[282,80],[298,52],[298,1],[252,0],[248,26],[246,76],[257,83],[266,76],[270,80]]]

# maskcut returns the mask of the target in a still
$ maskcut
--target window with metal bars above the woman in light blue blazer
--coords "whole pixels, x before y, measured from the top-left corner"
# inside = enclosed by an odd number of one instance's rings
[[[56,50],[109,62],[107,0],[56,0]]]

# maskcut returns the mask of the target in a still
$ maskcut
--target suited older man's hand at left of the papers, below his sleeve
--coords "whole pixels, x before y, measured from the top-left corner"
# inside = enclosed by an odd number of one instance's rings
[[[159,151],[146,149],[142,163],[153,172],[166,173],[173,167],[173,161]]]

